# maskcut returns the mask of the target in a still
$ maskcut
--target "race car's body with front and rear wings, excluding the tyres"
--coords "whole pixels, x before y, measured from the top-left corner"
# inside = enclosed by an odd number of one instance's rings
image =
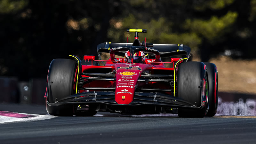
[[[183,44],[146,44],[146,38],[140,43],[137,33],[140,30],[132,31],[135,31],[133,43],[128,43],[127,39],[126,43],[98,44],[100,60],[90,55],[85,55],[83,60],[70,55],[77,61],[72,84],[74,92],[61,99],[48,97],[50,84],[47,82],[46,106],[73,105],[77,111],[122,114],[172,113],[172,108],[193,107],[175,97],[175,74],[179,63],[189,58],[190,48]],[[101,52],[108,53],[109,59],[101,60]],[[130,53],[128,59],[124,59],[126,52]],[[138,59],[136,52],[145,55]],[[145,61],[138,61],[144,58]],[[101,62],[103,65],[99,65]],[[53,102],[49,102],[50,98]]]

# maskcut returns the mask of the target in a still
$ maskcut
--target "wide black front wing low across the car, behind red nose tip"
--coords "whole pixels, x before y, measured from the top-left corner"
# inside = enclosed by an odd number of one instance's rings
[[[70,95],[60,99],[54,103],[47,104],[50,106],[59,105],[90,105],[90,104],[105,104],[105,105],[120,105],[115,101],[115,92],[83,92]],[[139,106],[139,105],[160,105],[172,108],[199,108],[187,102],[186,100],[173,97],[161,92],[135,92],[133,101],[124,106]],[[121,105],[120,105],[121,106]]]

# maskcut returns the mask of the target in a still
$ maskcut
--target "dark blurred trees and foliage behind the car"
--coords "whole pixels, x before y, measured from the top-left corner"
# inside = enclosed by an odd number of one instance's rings
[[[0,75],[46,78],[52,59],[96,55],[98,44],[186,44],[202,61],[255,59],[256,0],[0,0]]]

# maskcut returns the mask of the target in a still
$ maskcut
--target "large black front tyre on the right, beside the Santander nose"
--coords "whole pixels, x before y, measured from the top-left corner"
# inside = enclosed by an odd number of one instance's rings
[[[195,105],[198,109],[178,108],[180,117],[204,117],[207,114],[208,76],[202,62],[183,62],[177,71],[177,97]]]

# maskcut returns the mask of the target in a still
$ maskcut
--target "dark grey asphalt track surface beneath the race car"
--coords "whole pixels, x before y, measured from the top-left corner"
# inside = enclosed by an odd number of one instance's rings
[[[47,115],[41,105],[2,103],[0,110]],[[0,143],[256,143],[256,117],[179,118],[98,112],[92,117],[2,123]]]

